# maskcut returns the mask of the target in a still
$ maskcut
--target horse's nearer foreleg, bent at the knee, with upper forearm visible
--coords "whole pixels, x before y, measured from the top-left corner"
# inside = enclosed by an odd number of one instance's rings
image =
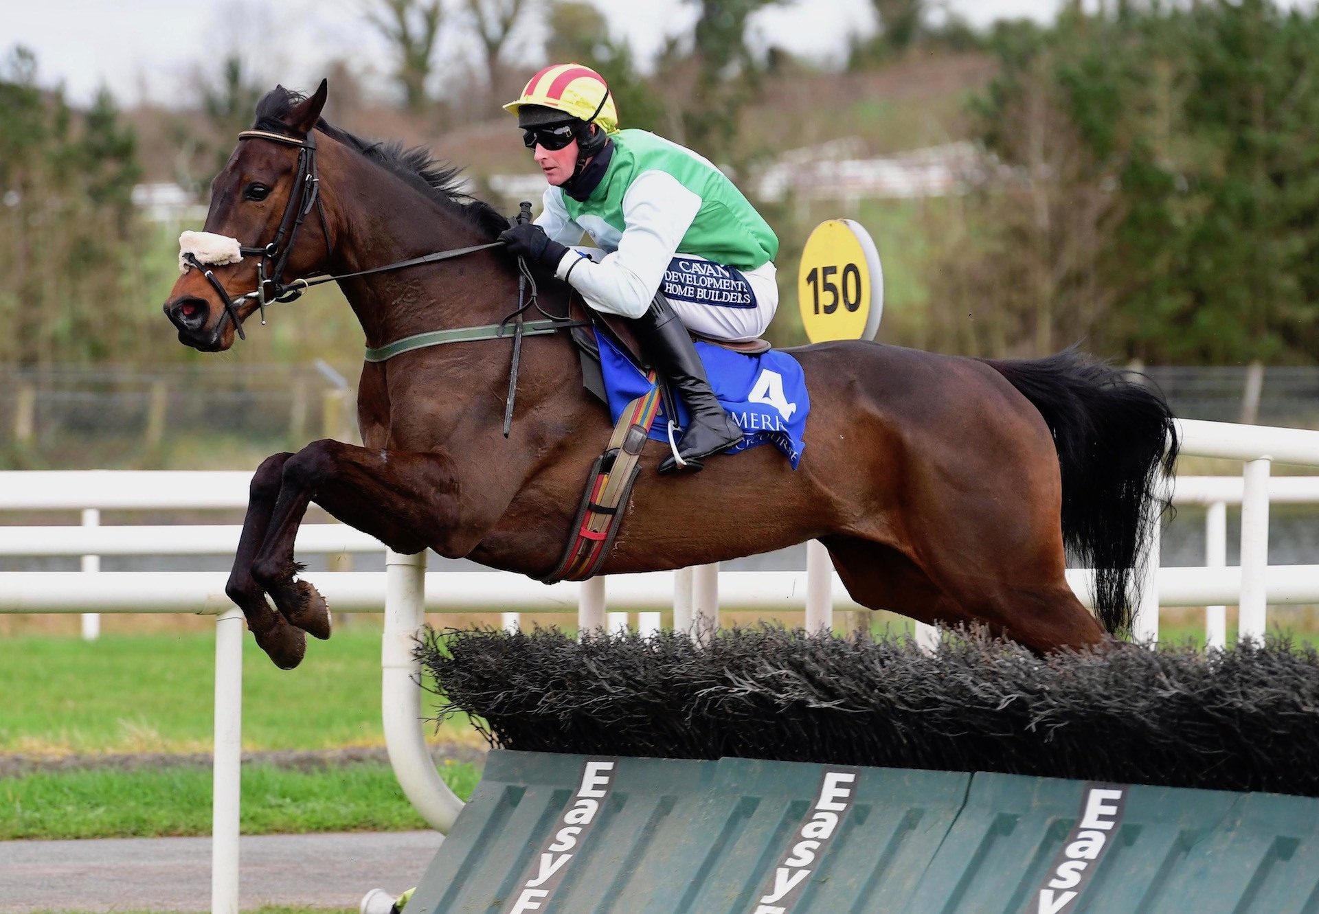
[[[442,454],[368,450],[326,439],[290,456],[252,576],[289,623],[318,638],[330,637],[330,612],[315,587],[298,580],[301,566],[293,557],[298,526],[313,501],[400,553],[435,543],[458,517],[456,480]]]

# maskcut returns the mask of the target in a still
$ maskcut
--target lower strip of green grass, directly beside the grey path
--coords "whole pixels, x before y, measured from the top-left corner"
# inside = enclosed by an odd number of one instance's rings
[[[467,799],[475,766],[446,762],[441,777]],[[243,768],[244,835],[425,828],[393,772],[380,762],[302,772]],[[24,838],[161,838],[211,834],[211,772],[140,770],[36,773],[0,779],[0,840]]]

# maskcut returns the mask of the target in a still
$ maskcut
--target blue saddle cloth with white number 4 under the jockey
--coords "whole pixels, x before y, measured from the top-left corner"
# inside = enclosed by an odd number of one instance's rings
[[[604,389],[609,397],[609,418],[615,422],[624,408],[641,394],[650,390],[652,384],[645,373],[627,353],[621,352],[608,336],[599,330],[595,338],[600,343],[600,373],[604,376]],[[741,444],[728,448],[728,452],[744,451],[756,444],[770,443],[783,452],[783,456],[797,470],[806,443],[806,415],[811,411],[811,398],[806,393],[806,375],[801,363],[786,352],[770,350],[761,355],[743,355],[721,346],[696,343],[696,352],[706,365],[710,386],[724,409],[737,419],[745,438]],[[650,427],[650,437],[667,442],[667,417],[663,408]],[[687,410],[678,402],[678,427],[687,427]]]

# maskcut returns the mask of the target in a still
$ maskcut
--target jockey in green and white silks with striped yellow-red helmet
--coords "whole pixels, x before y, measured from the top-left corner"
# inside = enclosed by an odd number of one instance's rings
[[[760,336],[778,306],[778,239],[747,198],[690,149],[646,131],[620,131],[595,70],[562,63],[532,76],[516,102],[522,140],[545,171],[534,223],[500,235],[545,264],[598,311],[632,318],[656,369],[690,414],[660,472],[739,443],[743,431],[710,389],[687,330],[723,340]],[[599,249],[568,248],[583,231]],[[594,255],[594,256],[592,256]]]

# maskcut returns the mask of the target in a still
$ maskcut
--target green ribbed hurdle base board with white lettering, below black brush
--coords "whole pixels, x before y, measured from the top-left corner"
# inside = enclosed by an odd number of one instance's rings
[[[1319,910],[1319,799],[489,753],[404,914]]]

